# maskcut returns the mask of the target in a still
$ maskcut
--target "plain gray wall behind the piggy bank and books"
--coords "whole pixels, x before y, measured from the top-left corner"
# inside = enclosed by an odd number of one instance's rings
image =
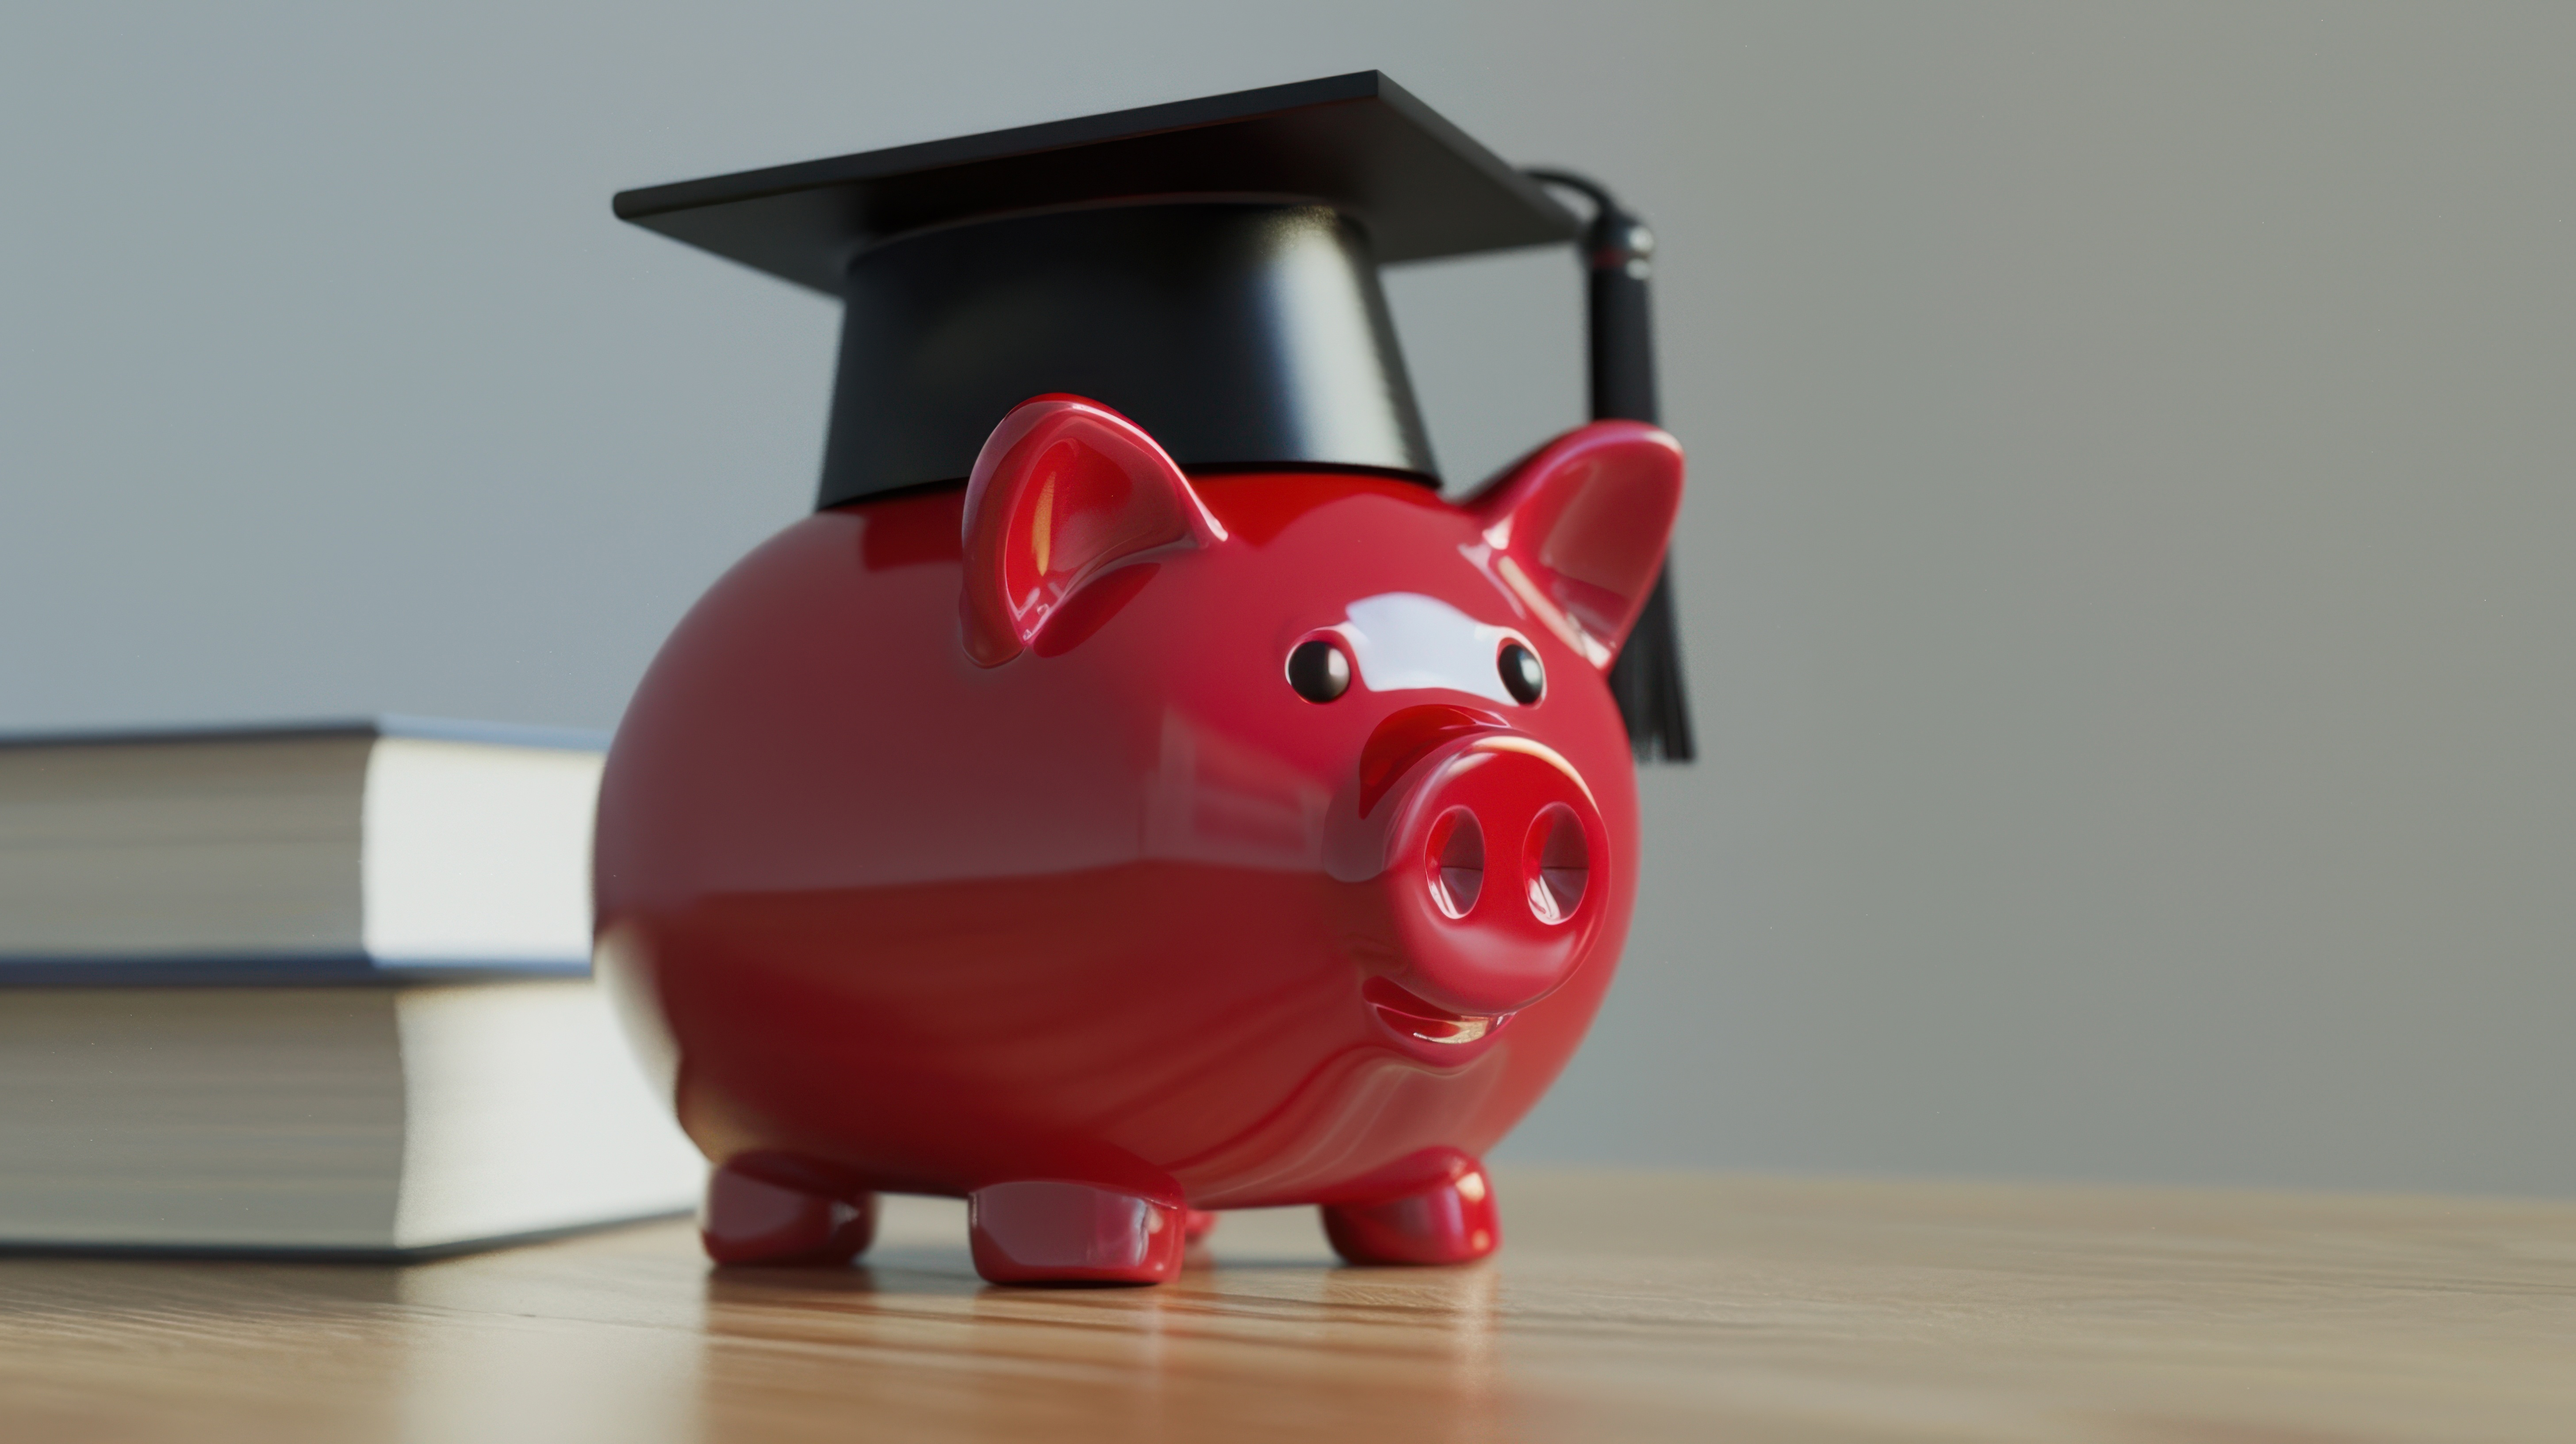
[[[52,13],[49,13],[52,10]],[[611,725],[822,299],[623,186],[1383,67],[1656,222],[1705,761],[1517,1158],[2576,1191],[2576,10],[0,10],[0,727]],[[1399,273],[1473,480],[1561,253]]]

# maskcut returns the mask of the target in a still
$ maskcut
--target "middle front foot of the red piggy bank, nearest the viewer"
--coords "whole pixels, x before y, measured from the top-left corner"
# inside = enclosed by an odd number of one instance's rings
[[[974,1271],[994,1284],[1159,1284],[1188,1212],[1090,1184],[992,1184],[969,1199]]]

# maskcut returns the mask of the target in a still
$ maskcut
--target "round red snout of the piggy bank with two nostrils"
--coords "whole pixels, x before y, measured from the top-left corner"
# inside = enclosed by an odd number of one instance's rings
[[[1546,998],[1600,931],[1605,864],[1600,807],[1566,758],[1517,732],[1455,745],[1404,797],[1381,877],[1396,982],[1471,1016]]]

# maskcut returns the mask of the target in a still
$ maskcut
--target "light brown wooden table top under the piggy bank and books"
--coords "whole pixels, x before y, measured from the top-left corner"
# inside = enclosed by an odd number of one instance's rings
[[[1530,1173],[1473,1269],[1231,1215],[1162,1289],[685,1225],[440,1264],[0,1261],[0,1439],[2576,1439],[2576,1204]]]

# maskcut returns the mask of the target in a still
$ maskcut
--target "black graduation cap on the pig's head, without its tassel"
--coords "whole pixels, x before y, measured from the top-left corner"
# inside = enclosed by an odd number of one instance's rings
[[[1077,392],[1193,472],[1432,480],[1378,266],[1582,232],[1363,70],[626,191],[621,219],[845,302],[819,505],[958,482]]]

